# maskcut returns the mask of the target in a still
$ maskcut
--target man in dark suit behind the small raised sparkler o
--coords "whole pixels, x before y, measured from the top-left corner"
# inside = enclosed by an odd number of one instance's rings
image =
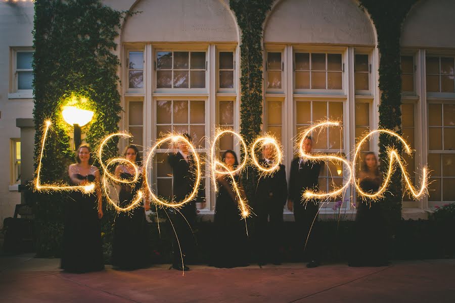
[[[262,167],[274,165],[274,147],[264,145]],[[283,232],[283,207],[288,196],[285,166],[272,175],[259,176],[254,195],[253,212],[256,230],[256,255],[259,265],[281,263],[280,246]],[[269,221],[270,220],[270,221]],[[269,222],[268,222],[269,221]]]

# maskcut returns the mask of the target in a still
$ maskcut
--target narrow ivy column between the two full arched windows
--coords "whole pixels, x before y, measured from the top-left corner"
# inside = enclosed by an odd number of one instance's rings
[[[271,0],[231,0],[241,31],[240,43],[240,133],[247,144],[260,133],[262,124],[262,26]],[[243,175],[243,186],[248,197],[252,196],[253,167]]]

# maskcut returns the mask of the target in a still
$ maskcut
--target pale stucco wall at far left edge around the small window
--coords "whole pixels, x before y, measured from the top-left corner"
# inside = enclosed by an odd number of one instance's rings
[[[10,85],[10,46],[32,46],[33,3],[0,2],[0,228],[14,215],[20,193],[10,191],[10,138],[19,138],[16,118],[32,118],[32,99],[8,99]]]

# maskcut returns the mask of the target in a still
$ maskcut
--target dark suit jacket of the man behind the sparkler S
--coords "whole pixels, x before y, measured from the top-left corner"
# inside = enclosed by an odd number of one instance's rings
[[[289,198],[294,202],[302,199],[302,193],[306,189],[318,189],[319,174],[322,162],[307,159],[306,163],[300,163],[300,158],[291,162],[291,176],[289,178]]]

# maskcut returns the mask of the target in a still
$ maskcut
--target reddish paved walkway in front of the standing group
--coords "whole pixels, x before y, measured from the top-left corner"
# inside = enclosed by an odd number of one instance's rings
[[[59,259],[0,257],[3,302],[455,302],[455,260],[397,261],[388,267],[304,264],[216,269],[169,265],[70,274]]]

